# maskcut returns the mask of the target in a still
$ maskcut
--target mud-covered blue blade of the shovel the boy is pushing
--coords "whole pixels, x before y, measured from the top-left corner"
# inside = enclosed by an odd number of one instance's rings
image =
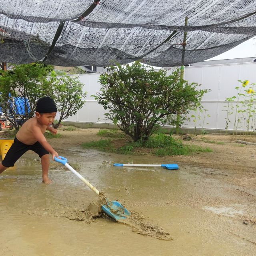
[[[108,201],[108,204],[102,204],[102,210],[114,220],[126,219],[130,212],[117,201]]]

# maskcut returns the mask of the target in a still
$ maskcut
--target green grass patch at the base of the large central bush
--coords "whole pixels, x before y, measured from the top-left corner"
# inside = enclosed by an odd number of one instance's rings
[[[86,142],[82,144],[83,148],[94,148],[104,152],[114,152],[118,154],[133,155],[189,155],[195,152],[212,152],[210,148],[202,148],[194,145],[183,145],[181,140],[175,139],[166,134],[157,134],[149,138],[148,141],[142,140],[129,142],[124,139],[108,139]]]

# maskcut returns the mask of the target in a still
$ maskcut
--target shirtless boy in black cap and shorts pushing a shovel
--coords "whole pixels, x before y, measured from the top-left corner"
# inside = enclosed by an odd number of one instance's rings
[[[36,103],[36,116],[30,118],[21,126],[14,138],[14,143],[8,150],[4,160],[0,164],[0,173],[14,163],[28,150],[33,150],[41,158],[42,178],[45,184],[50,184],[48,178],[48,168],[50,164],[49,152],[58,157],[58,153],[46,141],[44,132],[49,130],[52,134],[56,134],[57,130],[50,127],[56,116],[57,108],[54,101],[50,97],[40,98]]]

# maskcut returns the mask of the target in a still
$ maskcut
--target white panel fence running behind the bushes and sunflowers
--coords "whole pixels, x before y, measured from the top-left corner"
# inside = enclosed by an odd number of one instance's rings
[[[211,89],[211,92],[205,94],[202,99],[202,105],[208,110],[206,114],[210,115],[210,117],[205,118],[203,127],[203,116],[201,116],[201,119],[197,119],[196,128],[225,129],[226,112],[223,111],[226,110],[224,106],[227,105],[225,99],[237,95],[235,87],[240,86],[238,80],[249,80],[250,82],[256,83],[255,69],[255,62],[186,67],[184,74],[185,80],[202,84],[202,89]],[[94,100],[94,97],[91,97],[92,94],[100,90],[99,76],[100,74],[79,75],[79,80],[84,84],[84,91],[87,92],[86,104],[75,116],[67,118],[65,121],[100,124],[111,123],[104,116],[106,110]],[[231,116],[230,121],[231,127],[229,129],[232,130],[234,117]],[[187,121],[183,127],[194,128],[194,122],[192,120],[190,122]]]

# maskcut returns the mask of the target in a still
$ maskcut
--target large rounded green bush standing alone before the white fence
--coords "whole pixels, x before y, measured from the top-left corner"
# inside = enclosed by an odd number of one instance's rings
[[[148,140],[166,124],[176,125],[178,113],[182,115],[181,125],[208,91],[197,90],[197,83],[180,79],[179,70],[166,76],[166,71],[148,70],[139,62],[111,66],[100,76],[100,84],[102,88],[95,99],[108,110],[106,117],[134,141]]]

